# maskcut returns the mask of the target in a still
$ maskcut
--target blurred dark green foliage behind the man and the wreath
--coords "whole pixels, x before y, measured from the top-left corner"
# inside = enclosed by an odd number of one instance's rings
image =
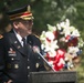
[[[80,30],[82,38],[84,37],[84,0],[0,0],[0,12],[4,13],[24,4],[31,6],[34,15],[34,33],[41,34],[43,30],[46,30],[48,23],[56,25],[67,18],[71,24]],[[3,27],[7,23],[8,20],[3,22]],[[1,29],[4,28],[0,24]],[[82,55],[82,58],[84,56]],[[81,62],[81,66],[83,66],[84,60]],[[84,72],[83,68],[78,70]],[[84,74],[80,73],[80,81],[84,82]]]

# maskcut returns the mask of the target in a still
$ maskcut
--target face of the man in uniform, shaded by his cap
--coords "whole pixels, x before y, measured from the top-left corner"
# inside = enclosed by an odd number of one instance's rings
[[[22,37],[27,37],[32,33],[33,20],[21,20],[18,23],[18,31]]]

